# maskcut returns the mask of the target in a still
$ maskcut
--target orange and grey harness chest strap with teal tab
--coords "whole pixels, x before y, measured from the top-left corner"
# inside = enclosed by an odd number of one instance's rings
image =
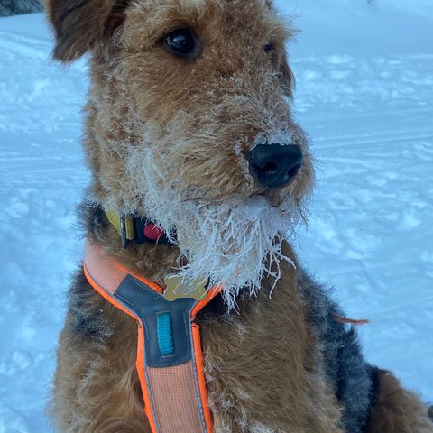
[[[138,324],[136,368],[152,433],[211,433],[200,331],[195,318],[206,298],[168,301],[163,289],[125,269],[88,241],[84,272],[90,285]]]

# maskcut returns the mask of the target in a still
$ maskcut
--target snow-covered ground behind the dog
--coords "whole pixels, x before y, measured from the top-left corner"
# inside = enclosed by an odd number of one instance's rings
[[[365,354],[433,401],[433,2],[281,0],[299,122],[319,186],[299,254],[360,329]],[[41,14],[0,19],[0,433],[43,416],[69,274],[84,61],[50,60]]]

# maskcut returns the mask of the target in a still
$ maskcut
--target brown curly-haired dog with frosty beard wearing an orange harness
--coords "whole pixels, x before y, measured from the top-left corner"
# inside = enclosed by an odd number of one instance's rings
[[[419,398],[364,360],[290,246],[314,160],[290,110],[293,31],[272,1],[47,10],[54,58],[89,53],[91,83],[88,247],[60,336],[56,430],[433,432]],[[162,306],[156,325],[144,297]],[[193,368],[179,385],[181,347]]]

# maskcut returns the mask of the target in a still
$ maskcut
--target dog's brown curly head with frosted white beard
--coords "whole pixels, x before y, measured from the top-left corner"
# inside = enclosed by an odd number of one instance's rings
[[[54,56],[90,51],[85,148],[103,207],[176,226],[226,299],[276,272],[313,181],[269,0],[49,0]],[[278,266],[277,266],[278,268]]]

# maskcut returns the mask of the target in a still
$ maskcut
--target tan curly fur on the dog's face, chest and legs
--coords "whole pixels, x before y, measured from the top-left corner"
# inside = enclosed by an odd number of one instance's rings
[[[170,163],[161,183],[178,185],[183,198],[191,190],[209,201],[234,192],[267,194],[245,173],[244,154],[254,137],[281,125],[296,133],[305,162],[272,200],[280,195],[299,205],[308,194],[312,160],[286,101],[293,87],[284,51],[290,31],[272,2],[47,0],[47,9],[54,57],[70,61],[91,53],[84,146],[93,175],[88,195],[99,205],[143,213],[152,190],[140,183],[128,158],[154,147],[155,165]],[[213,50],[197,62],[170,57],[158,41],[179,26],[198,29]],[[266,56],[260,48],[270,40],[275,50]],[[245,44],[259,51],[245,50]],[[146,124],[151,132],[145,134],[144,119],[152,126]],[[234,141],[240,154],[228,145]],[[149,280],[162,283],[178,264],[176,248],[123,250],[112,226],[91,225],[96,242]],[[284,249],[295,258],[289,245]],[[272,281],[266,280],[257,297],[238,299],[238,315],[199,318],[217,433],[343,433],[341,409],[299,297],[299,271],[288,263],[281,267],[272,299]],[[149,432],[134,368],[134,320],[97,295],[81,272],[70,293],[51,401],[55,427],[74,433]],[[369,433],[433,431],[413,394],[387,374],[381,382]]]

